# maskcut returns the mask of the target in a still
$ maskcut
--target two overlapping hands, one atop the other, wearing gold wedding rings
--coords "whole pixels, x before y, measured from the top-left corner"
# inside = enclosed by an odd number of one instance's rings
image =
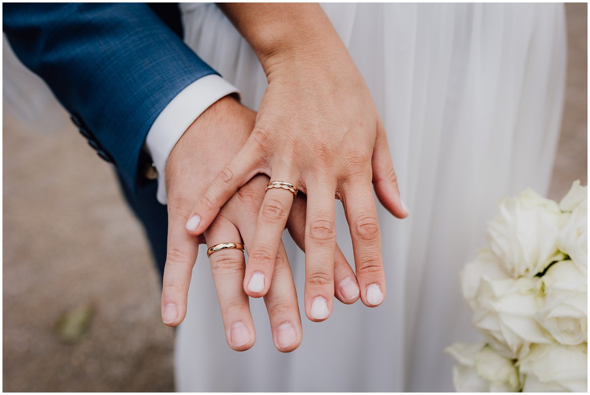
[[[306,253],[305,312],[319,322],[330,316],[334,296],[369,307],[385,297],[372,186],[394,216],[408,210],[365,81],[323,12],[299,15],[316,31],[278,40],[276,24],[249,23],[249,6],[222,8],[258,55],[268,87],[258,113],[232,96],[218,100],[169,155],[162,318],[171,327],[184,319],[199,244],[243,243],[247,266],[240,249],[210,256],[228,344],[237,351],[254,345],[248,296],[264,296],[274,343],[287,352],[299,346],[302,329],[284,229]],[[299,193],[266,191],[270,180]],[[345,209],[356,275],[336,243],[335,198]]]

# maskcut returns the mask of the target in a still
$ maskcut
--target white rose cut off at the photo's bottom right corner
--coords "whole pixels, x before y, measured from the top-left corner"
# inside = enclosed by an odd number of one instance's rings
[[[533,344],[519,362],[523,392],[588,391],[588,344]]]

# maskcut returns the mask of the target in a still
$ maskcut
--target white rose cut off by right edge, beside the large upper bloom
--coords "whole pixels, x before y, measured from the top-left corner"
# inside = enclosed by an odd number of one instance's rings
[[[568,254],[582,273],[588,273],[588,200],[571,213],[562,214],[565,224],[559,233],[559,249]]]

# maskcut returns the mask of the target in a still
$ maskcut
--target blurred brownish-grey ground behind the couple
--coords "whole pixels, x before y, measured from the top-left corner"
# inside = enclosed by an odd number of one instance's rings
[[[587,183],[586,4],[568,14],[563,128],[549,196]],[[34,135],[4,118],[4,391],[171,391],[173,331],[159,279],[112,169],[73,126]],[[55,323],[93,306],[65,344]]]

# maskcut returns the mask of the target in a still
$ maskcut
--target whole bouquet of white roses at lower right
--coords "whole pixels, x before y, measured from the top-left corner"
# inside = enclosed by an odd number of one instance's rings
[[[455,390],[587,391],[587,218],[579,181],[559,204],[530,189],[500,201],[489,247],[460,273],[484,341],[445,350]]]

